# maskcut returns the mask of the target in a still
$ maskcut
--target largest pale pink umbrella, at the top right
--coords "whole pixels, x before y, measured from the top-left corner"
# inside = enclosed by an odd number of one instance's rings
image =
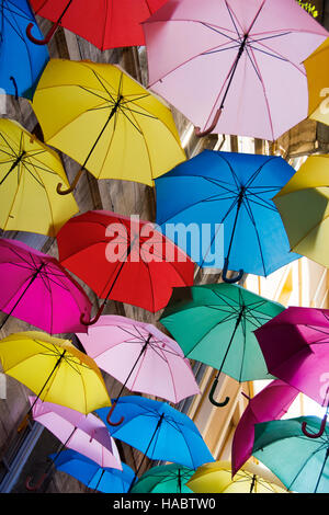
[[[274,140],[307,117],[329,33],[295,0],[169,0],[143,24],[149,88],[209,131]]]

